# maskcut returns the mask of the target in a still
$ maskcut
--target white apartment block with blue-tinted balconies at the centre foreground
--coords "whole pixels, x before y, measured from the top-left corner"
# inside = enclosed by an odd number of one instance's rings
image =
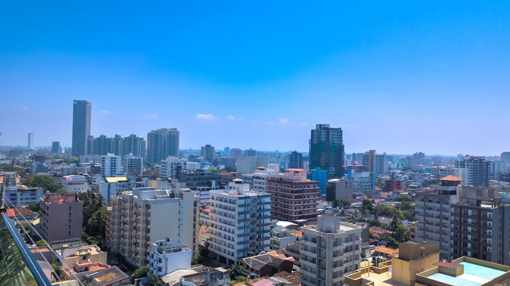
[[[270,194],[249,190],[241,179],[210,193],[209,251],[218,261],[230,265],[269,251]]]

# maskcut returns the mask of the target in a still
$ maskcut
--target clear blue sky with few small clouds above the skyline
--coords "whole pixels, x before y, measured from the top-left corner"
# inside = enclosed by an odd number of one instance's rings
[[[176,127],[181,147],[508,151],[510,2],[0,3],[3,145]]]

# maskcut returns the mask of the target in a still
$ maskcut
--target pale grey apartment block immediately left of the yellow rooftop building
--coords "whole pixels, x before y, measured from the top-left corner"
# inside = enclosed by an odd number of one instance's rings
[[[317,225],[303,226],[300,230],[301,285],[341,286],[344,275],[360,268],[361,226],[342,222],[338,216],[324,215],[317,218]]]

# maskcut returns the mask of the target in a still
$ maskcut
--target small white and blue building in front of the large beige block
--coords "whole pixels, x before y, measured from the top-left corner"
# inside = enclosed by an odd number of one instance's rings
[[[150,274],[158,277],[179,269],[191,269],[191,249],[184,244],[166,238],[152,243],[148,248],[148,268]]]

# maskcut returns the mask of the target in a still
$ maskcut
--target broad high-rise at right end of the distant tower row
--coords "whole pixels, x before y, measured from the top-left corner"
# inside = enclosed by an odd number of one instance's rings
[[[168,156],[179,157],[179,131],[160,128],[147,134],[147,162],[159,163]]]

